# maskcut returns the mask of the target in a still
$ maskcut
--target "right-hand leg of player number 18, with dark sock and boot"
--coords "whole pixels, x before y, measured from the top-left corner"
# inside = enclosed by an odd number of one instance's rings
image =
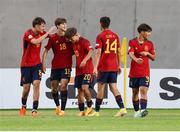
[[[60,116],[64,116],[64,111],[66,108],[66,102],[67,102],[67,86],[68,86],[68,79],[61,79],[61,112],[59,113]]]

